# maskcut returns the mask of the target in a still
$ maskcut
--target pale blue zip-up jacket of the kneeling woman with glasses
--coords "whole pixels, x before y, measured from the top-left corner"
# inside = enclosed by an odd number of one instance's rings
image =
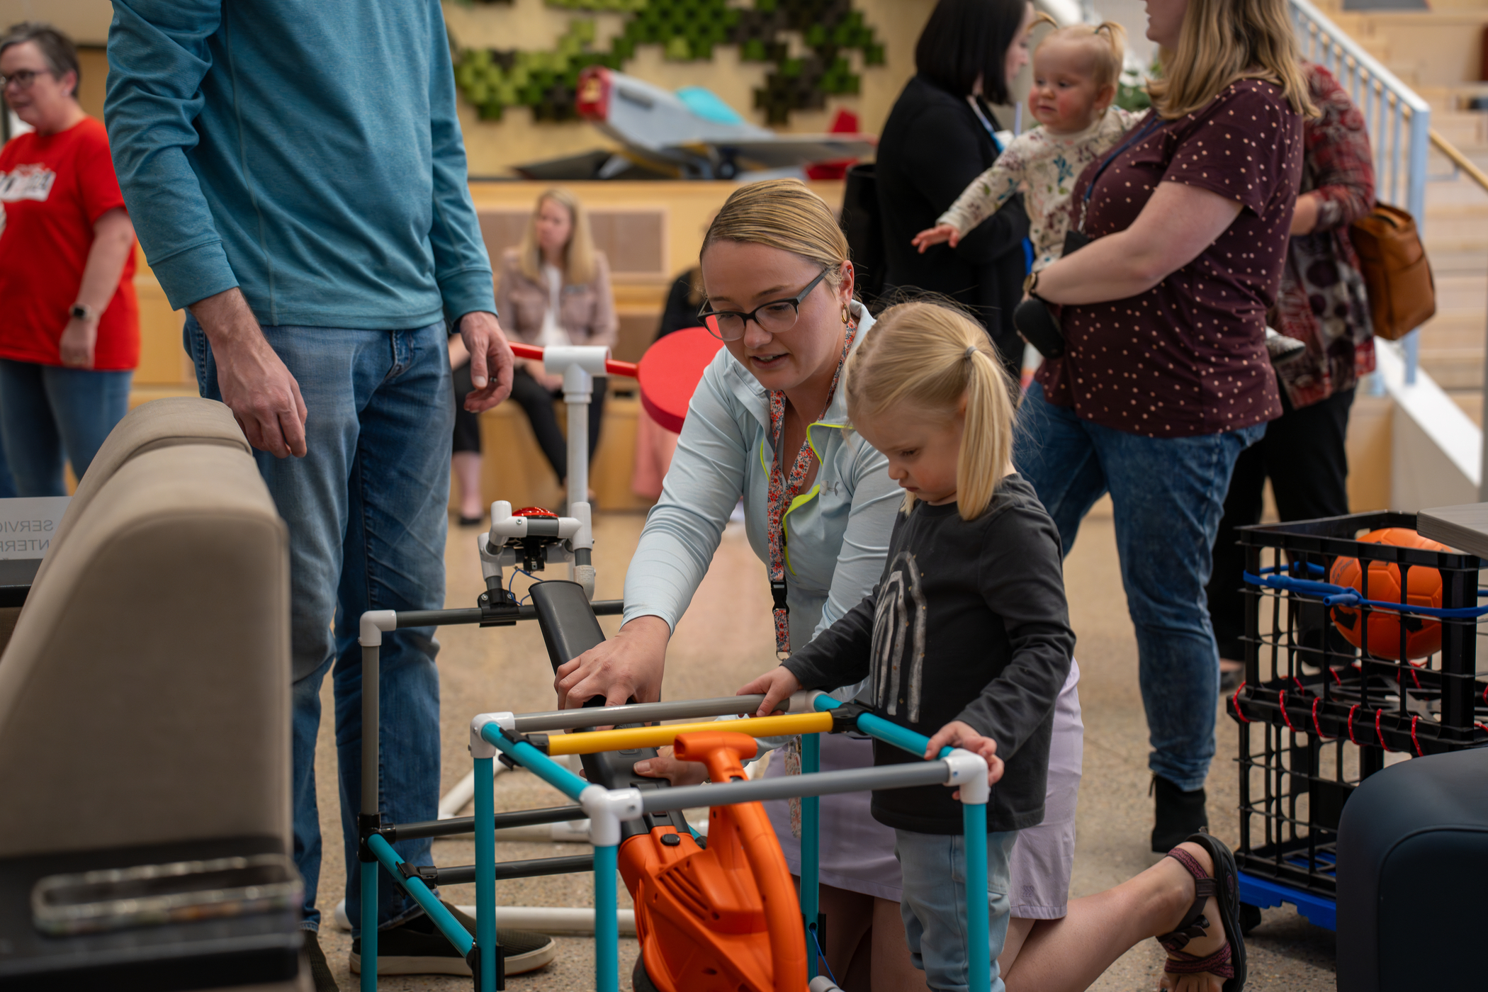
[[[873,318],[856,302],[853,312],[859,321],[853,341],[857,350],[872,333]],[[812,488],[796,497],[786,513],[792,648],[811,641],[872,592],[903,501],[903,489],[888,477],[888,460],[845,428],[844,393],[839,382],[826,415],[808,427],[821,464]],[[750,546],[760,561],[769,561],[765,519],[774,458],[769,396],[723,348],[692,394],[661,500],[646,518],[625,573],[626,622],[658,616],[677,626],[740,495]]]

